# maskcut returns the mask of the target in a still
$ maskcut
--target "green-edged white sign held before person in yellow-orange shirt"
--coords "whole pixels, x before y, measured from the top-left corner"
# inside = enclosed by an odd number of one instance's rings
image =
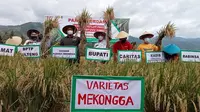
[[[165,62],[163,52],[145,52],[147,63]]]

